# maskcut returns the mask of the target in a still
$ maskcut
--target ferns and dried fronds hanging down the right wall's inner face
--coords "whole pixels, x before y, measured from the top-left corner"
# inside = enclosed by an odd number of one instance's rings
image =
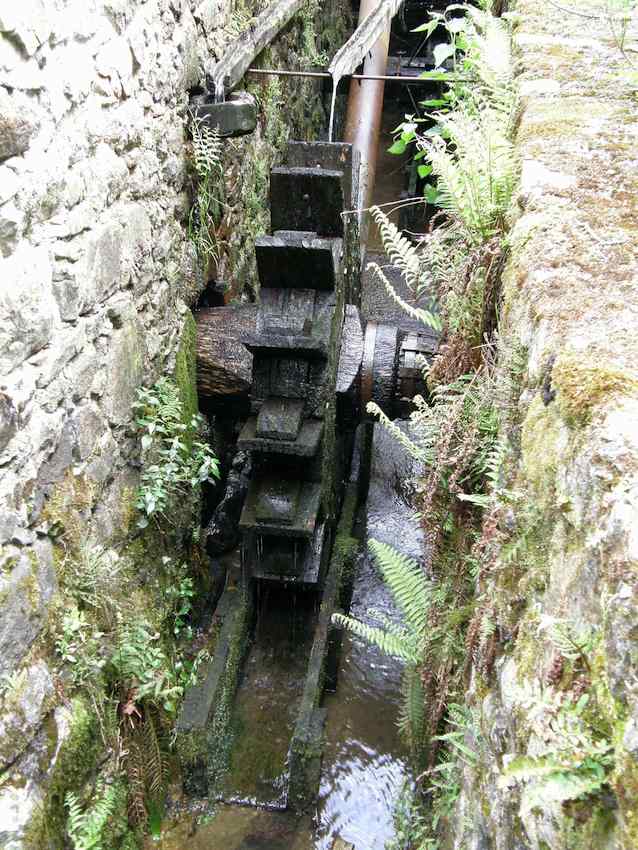
[[[453,7],[454,14],[459,8]],[[408,680],[418,682],[420,705],[414,704],[415,689],[406,689],[404,715],[413,724],[413,748],[418,741],[420,799],[421,805],[427,801],[428,814],[419,813],[418,800],[407,805],[403,846],[430,850],[439,846],[464,765],[477,758],[474,721],[464,700],[477,647],[486,656],[494,652],[494,623],[476,587],[489,536],[489,526],[482,524],[501,479],[508,388],[515,378],[514,366],[505,378],[496,360],[498,284],[517,179],[510,33],[507,23],[488,11],[462,8],[462,18],[452,18],[450,11],[433,13],[424,29],[447,26],[449,44],[438,49],[437,61],[452,60],[463,82],[452,82],[425,120],[409,118],[393,146],[398,152],[413,146],[422,176],[433,181],[426,191],[439,212],[428,233],[411,245],[381,210],[373,209],[411,300],[399,298],[380,268],[374,267],[375,273],[413,318],[441,332],[438,354],[426,367],[430,398],[415,399],[411,437],[369,407],[428,468],[419,508],[431,564],[425,574],[397,553],[384,552],[380,566],[399,602],[408,578],[417,587],[418,614],[409,610],[405,633],[366,631],[341,618],[406,659]]]

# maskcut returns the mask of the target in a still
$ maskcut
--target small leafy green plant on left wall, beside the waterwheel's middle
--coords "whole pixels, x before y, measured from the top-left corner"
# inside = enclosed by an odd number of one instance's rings
[[[205,481],[219,478],[219,463],[202,439],[203,417],[184,421],[179,390],[169,378],[140,389],[134,409],[144,461],[135,502],[138,525],[145,528],[152,519],[170,523],[179,499],[196,496]]]

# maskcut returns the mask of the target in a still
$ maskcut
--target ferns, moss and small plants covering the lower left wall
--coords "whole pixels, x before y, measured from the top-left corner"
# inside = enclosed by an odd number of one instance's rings
[[[159,829],[171,727],[208,657],[189,647],[197,547],[184,548],[183,532],[187,527],[190,541],[201,484],[217,474],[217,461],[194,412],[188,339],[187,323],[175,380],[163,377],[138,392],[141,483],[137,496],[129,496],[137,533],[119,550],[106,549],[79,514],[69,513],[67,501],[56,508],[53,499],[48,508],[51,520],[58,510],[61,519],[54,525],[59,587],[51,640],[60,693],[78,706],[70,721],[78,733],[64,743],[60,775],[32,827],[36,842],[47,836],[62,846],[66,832],[74,848],[132,850],[144,831]],[[90,747],[80,734],[85,727]]]

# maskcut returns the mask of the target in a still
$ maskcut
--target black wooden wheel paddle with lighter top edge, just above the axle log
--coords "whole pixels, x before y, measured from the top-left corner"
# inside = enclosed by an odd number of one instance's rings
[[[255,240],[262,288],[335,289],[342,254],[341,239],[316,233],[278,230]]]

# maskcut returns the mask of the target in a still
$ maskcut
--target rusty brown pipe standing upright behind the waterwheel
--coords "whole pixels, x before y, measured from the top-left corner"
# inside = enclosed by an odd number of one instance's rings
[[[359,26],[373,12],[378,0],[361,0]],[[383,77],[388,67],[390,48],[390,22],[363,63],[364,76]],[[361,157],[359,172],[359,209],[370,206],[381,130],[384,80],[352,80],[348,97],[348,111],[344,141],[352,144]],[[364,213],[359,222],[362,250],[367,242],[369,215]]]

